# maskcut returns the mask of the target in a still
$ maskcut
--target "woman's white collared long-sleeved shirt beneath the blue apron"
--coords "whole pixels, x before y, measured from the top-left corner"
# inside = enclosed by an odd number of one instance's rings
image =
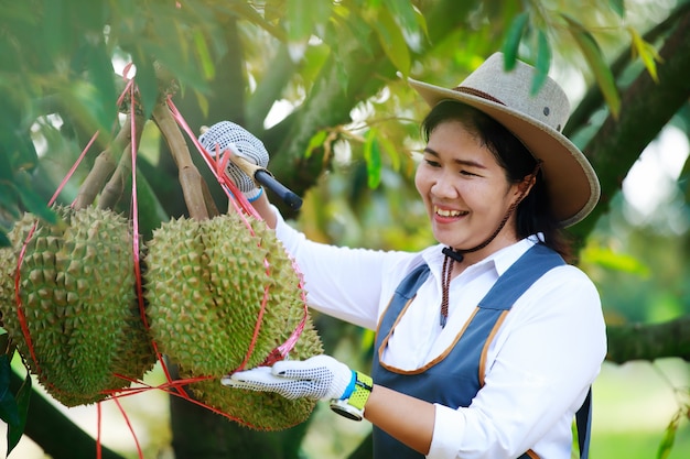
[[[498,276],[537,241],[531,237],[504,248],[453,278],[449,320],[441,328],[442,245],[408,253],[320,244],[276,212],[277,236],[304,275],[310,307],[362,327],[376,329],[400,281],[417,265],[429,265],[429,278],[382,356],[388,365],[406,370],[443,353]],[[574,413],[605,353],[604,319],[592,281],[572,265],[549,271],[514,304],[496,334],[485,385],[471,406],[436,405],[427,457],[513,459],[532,449],[542,459],[569,459]]]

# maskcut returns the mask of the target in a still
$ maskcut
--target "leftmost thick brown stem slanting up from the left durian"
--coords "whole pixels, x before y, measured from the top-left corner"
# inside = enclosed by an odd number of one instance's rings
[[[125,124],[120,129],[120,132],[116,135],[112,143],[96,157],[94,167],[86,176],[86,179],[79,187],[77,197],[74,200],[74,209],[83,209],[94,204],[96,195],[103,189],[106,181],[112,174],[117,166],[116,152],[121,152],[125,145],[129,143],[131,138],[131,123],[130,116],[127,116]]]

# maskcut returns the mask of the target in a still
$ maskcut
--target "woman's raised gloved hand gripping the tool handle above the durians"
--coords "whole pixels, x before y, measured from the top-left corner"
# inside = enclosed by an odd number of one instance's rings
[[[220,121],[212,125],[198,138],[198,142],[212,155],[216,154],[216,145],[219,153],[234,145],[235,149],[231,151],[238,156],[258,166],[268,166],[269,155],[263,143],[251,132],[231,121]],[[228,161],[226,173],[249,201],[261,196],[262,188],[231,161]]]

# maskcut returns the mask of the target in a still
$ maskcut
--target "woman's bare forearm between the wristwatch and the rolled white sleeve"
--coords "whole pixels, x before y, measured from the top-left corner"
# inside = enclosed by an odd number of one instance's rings
[[[429,453],[435,417],[433,404],[375,384],[364,417],[416,451]]]

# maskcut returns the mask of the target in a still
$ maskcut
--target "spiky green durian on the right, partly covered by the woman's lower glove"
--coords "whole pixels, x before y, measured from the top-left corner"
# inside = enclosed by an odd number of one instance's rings
[[[248,427],[277,430],[305,420],[315,403],[219,382],[247,356],[244,369],[261,364],[306,314],[292,260],[272,230],[246,218],[251,230],[237,214],[204,221],[181,218],[155,230],[147,244],[147,315],[153,340],[183,378],[211,378],[190,385],[198,401]],[[308,315],[290,358],[321,352]]]

